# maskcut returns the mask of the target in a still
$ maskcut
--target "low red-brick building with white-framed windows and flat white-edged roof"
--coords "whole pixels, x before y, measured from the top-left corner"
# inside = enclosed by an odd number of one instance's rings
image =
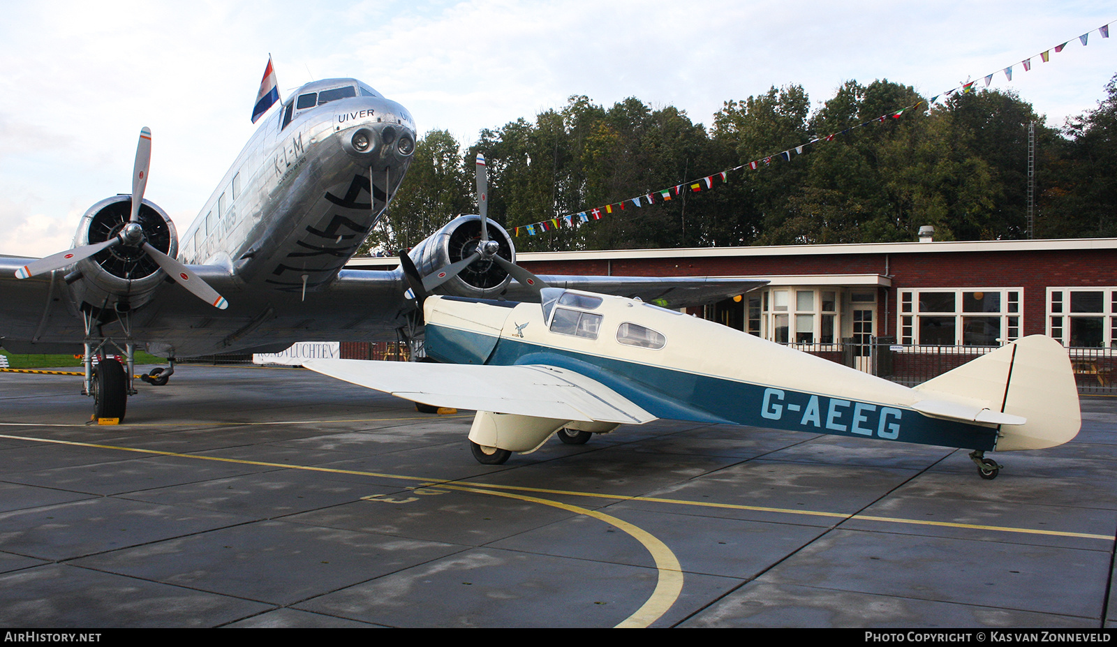
[[[990,346],[1117,341],[1117,239],[986,240],[522,254],[536,274],[733,276],[771,283],[707,318],[765,339]]]

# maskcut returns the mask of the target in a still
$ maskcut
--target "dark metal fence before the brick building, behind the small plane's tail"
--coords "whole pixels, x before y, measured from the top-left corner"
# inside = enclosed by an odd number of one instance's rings
[[[789,344],[839,364],[852,367],[879,378],[914,387],[956,369],[999,346],[905,346],[889,337],[872,337],[868,343],[843,339],[838,344]],[[1117,394],[1114,349],[1068,349],[1079,393]]]

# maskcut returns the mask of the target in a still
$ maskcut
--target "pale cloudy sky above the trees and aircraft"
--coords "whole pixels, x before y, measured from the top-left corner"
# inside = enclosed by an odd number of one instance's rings
[[[309,80],[355,77],[408,107],[420,134],[446,130],[462,145],[572,95],[607,107],[634,96],[709,125],[724,102],[772,86],[801,85],[817,107],[850,79],[932,96],[983,86],[991,73],[991,89],[1015,91],[1061,126],[1095,108],[1117,74],[1117,23],[1109,39],[1098,32],[1117,22],[1111,1],[6,0],[3,9],[0,254],[29,257],[69,248],[88,207],[131,191],[142,126],[153,140],[145,197],[184,231],[255,131],[269,54],[283,98]],[[1011,83],[1001,72],[1010,65]]]

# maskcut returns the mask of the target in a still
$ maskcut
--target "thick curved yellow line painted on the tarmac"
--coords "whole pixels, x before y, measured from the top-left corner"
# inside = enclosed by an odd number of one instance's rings
[[[662,617],[662,615],[666,613],[672,605],[675,605],[675,601],[679,599],[679,594],[682,592],[682,567],[679,564],[679,560],[675,556],[675,553],[671,552],[671,549],[667,548],[667,544],[659,541],[659,539],[657,539],[653,534],[627,521],[621,521],[615,516],[595,510],[540,498],[537,496],[513,494],[510,492],[496,492],[480,487],[448,485],[445,483],[440,483],[438,486],[445,489],[488,494],[491,496],[503,496],[506,498],[537,503],[540,505],[550,505],[551,507],[557,507],[575,514],[591,516],[599,521],[603,521],[624,533],[628,533],[632,539],[640,542],[643,548],[651,553],[651,558],[656,561],[656,570],[659,575],[656,581],[656,589],[651,592],[651,597],[648,598],[648,600],[645,601],[639,609],[622,620],[614,628],[632,629],[650,626],[652,622]]]

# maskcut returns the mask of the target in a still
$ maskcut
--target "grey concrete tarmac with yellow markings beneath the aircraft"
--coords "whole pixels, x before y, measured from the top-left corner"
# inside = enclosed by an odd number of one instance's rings
[[[1110,628],[1117,399],[995,455],[657,421],[477,464],[471,412],[181,365],[124,425],[0,373],[6,627]]]

